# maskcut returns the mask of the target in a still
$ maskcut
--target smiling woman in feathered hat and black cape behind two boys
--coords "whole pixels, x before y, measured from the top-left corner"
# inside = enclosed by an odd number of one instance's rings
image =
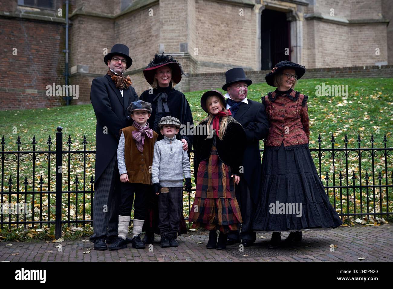
[[[183,70],[180,63],[173,59],[171,55],[164,55],[164,53],[154,55],[153,60],[143,70],[143,75],[151,88],[145,90],[140,99],[152,105],[152,113],[147,122],[149,127],[158,133],[157,141],[163,138],[158,123],[165,116],[177,118],[185,127],[194,125],[187,99],[182,92],[174,88],[182,80],[182,74]],[[184,133],[181,129],[176,138],[183,142],[185,151],[191,151],[193,145],[191,134]],[[151,244],[154,241],[154,233],[160,234],[158,230],[158,198],[155,194],[151,195],[148,207],[146,217],[148,221],[143,226],[143,231],[146,232],[143,242]],[[179,228],[179,234],[187,232],[183,214],[181,215]]]

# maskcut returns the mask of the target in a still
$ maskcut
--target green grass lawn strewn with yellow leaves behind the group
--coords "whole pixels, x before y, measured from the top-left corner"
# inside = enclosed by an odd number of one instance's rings
[[[343,99],[342,96],[316,96],[316,85],[348,85],[349,88],[349,96],[346,99]],[[218,88],[217,88],[218,89]],[[318,134],[321,135],[322,148],[330,148],[332,143],[330,142],[331,135],[334,134],[336,148],[345,147],[344,138],[345,134],[348,136],[348,147],[357,148],[358,142],[356,141],[358,138],[358,134],[362,138],[361,145],[362,147],[371,147],[371,134],[373,134],[375,142],[374,147],[383,147],[383,138],[384,134],[387,137],[387,147],[393,147],[391,134],[393,131],[393,79],[392,78],[362,78],[362,79],[301,79],[296,87],[296,90],[301,93],[307,94],[309,96],[309,117],[310,117],[310,148],[318,148]],[[206,91],[206,90],[205,90]],[[248,98],[261,101],[261,96],[267,94],[267,92],[272,91],[272,87],[267,84],[253,84],[248,90]],[[204,91],[196,91],[196,92],[187,92],[185,96],[189,101],[191,111],[193,112],[194,121],[198,122],[205,117],[205,113],[200,108],[200,97]],[[139,94],[141,92],[138,92]],[[51,146],[51,150],[55,149],[55,133],[57,126],[63,127],[63,149],[66,149],[66,141],[68,135],[70,135],[72,144],[70,144],[71,150],[81,150],[83,149],[83,137],[86,136],[87,150],[95,150],[95,115],[94,110],[91,105],[71,105],[68,107],[55,107],[48,109],[29,109],[29,110],[9,110],[9,111],[0,111],[0,136],[4,135],[5,139],[5,151],[17,151],[17,138],[20,136],[20,150],[21,151],[31,151],[32,147],[32,138],[35,135],[35,139],[37,145],[35,150],[39,151],[47,151],[48,145],[46,144],[48,141],[48,136],[51,136],[53,145]],[[261,142],[261,147],[262,142]],[[315,153],[313,155],[316,156]],[[20,161],[20,189],[24,191],[23,179],[26,175],[28,179],[28,191],[33,189],[33,171],[32,171],[32,160],[31,155],[24,155]],[[90,158],[86,162],[87,168],[86,171],[83,171],[83,162],[79,160],[79,158],[83,158],[81,155],[73,155],[70,160],[71,170],[68,171],[68,157],[64,157],[63,163],[63,190],[68,190],[68,175],[70,175],[70,190],[75,190],[75,177],[79,178],[79,188],[78,190],[83,190],[83,180],[86,179],[86,190],[89,190],[90,184],[88,183],[91,175],[94,175],[94,159]],[[8,191],[8,180],[11,176],[13,179],[13,187],[12,191],[15,191],[15,186],[17,183],[17,162],[13,160],[13,156],[7,156],[8,160],[4,162],[4,191]],[[14,157],[16,159],[16,157]],[[50,215],[50,219],[53,220],[54,216],[54,195],[50,195],[50,199],[48,200],[48,195],[46,192],[55,190],[54,188],[54,176],[55,176],[55,158],[51,156],[51,184],[48,185],[48,160],[46,159],[46,155],[36,155],[36,166],[34,172],[34,183],[35,190],[40,190],[40,180],[39,177],[42,175],[43,184],[42,191],[45,193],[42,195],[44,204],[40,205],[39,194],[35,196],[34,207],[35,207],[35,220],[37,217],[42,214],[43,220],[48,220],[48,215]],[[354,172],[358,175],[358,158],[354,155],[348,158],[349,161],[349,182],[352,184],[351,176]],[[338,173],[342,171],[345,173],[345,157],[338,155],[336,157],[336,166],[335,166],[335,176],[336,176],[336,185],[338,180]],[[315,159],[315,163],[318,169],[318,159]],[[1,164],[0,164],[1,166]],[[391,184],[391,173],[393,169],[393,164],[391,158],[388,158],[388,172],[389,172],[389,184]],[[365,171],[371,175],[372,166],[371,166],[371,157],[367,158],[362,156],[362,175],[364,175]],[[329,172],[330,184],[332,184],[332,173],[333,167],[331,163],[331,158],[329,157],[329,153],[326,153],[325,158],[322,161],[322,170],[323,178],[326,171]],[[379,153],[375,157],[375,174],[376,181],[377,174],[380,171],[382,175],[382,184],[385,181],[385,165],[384,158]],[[343,175],[345,182],[345,175]],[[325,180],[323,180],[324,184],[326,184]],[[356,184],[358,184],[358,180],[356,179]],[[353,211],[353,205],[356,204],[356,207],[360,207],[360,191],[355,191],[355,199],[353,198],[353,191],[349,191],[349,199],[346,198],[345,191],[345,199],[343,205],[344,212],[346,212],[346,203],[350,204],[350,208]],[[382,188],[380,191],[378,188],[376,189],[376,211],[380,209],[379,206],[379,197],[380,193],[382,195],[382,211],[386,212],[386,190]],[[365,192],[363,191],[363,194]],[[75,219],[75,215],[78,216],[78,219],[83,217],[83,214],[86,215],[86,219],[90,219],[90,193],[78,193],[78,199],[75,198],[75,193],[65,194],[63,196],[63,218],[64,220]],[[336,195],[333,194],[332,190],[329,191],[329,196],[331,202],[336,200],[336,203],[340,202],[340,194],[336,190]],[[389,210],[392,210],[393,203],[393,191],[389,190]],[[83,197],[86,197],[86,207],[83,207]],[[9,199],[9,195],[4,195],[4,201]],[[24,200],[24,195],[19,195],[19,201]],[[27,196],[26,199],[28,202],[33,203],[31,199],[31,194]],[[185,197],[184,202],[184,210],[185,215],[187,215],[188,210],[188,200]],[[369,200],[370,201],[370,200]],[[11,195],[11,202],[16,202],[16,195]],[[70,213],[68,214],[68,202],[70,202]],[[192,200],[191,200],[192,202]],[[370,201],[369,206],[373,210],[374,206]],[[49,205],[48,205],[49,203]],[[364,195],[363,199],[364,210],[367,207],[366,197]],[[339,206],[338,206],[339,208]],[[352,212],[351,211],[351,212]],[[13,216],[14,217],[14,216]],[[21,216],[23,217],[23,216]],[[8,215],[4,215],[5,219],[8,219]],[[386,217],[385,217],[386,219]],[[31,220],[31,219],[30,219]],[[349,220],[348,220],[349,221]],[[86,225],[88,227],[88,225]],[[8,226],[4,227],[8,228]],[[1,234],[6,236],[6,239],[13,238],[34,238],[34,236],[52,236],[53,230],[51,232],[49,228],[44,229],[43,231],[33,230],[33,232],[22,232],[11,230],[12,232],[8,232],[5,230],[0,232]],[[30,228],[31,229],[31,228]],[[6,234],[5,234],[5,231]],[[65,230],[67,232],[76,232],[77,235],[83,234],[86,231],[79,231],[75,228]],[[18,233],[19,232],[19,233]],[[42,232],[42,233],[40,233]],[[76,234],[75,233],[75,234]],[[26,236],[26,234],[30,234]],[[75,234],[67,235],[76,236]],[[86,232],[88,234],[88,232]],[[22,238],[23,236],[23,238]],[[4,238],[4,237],[3,237]]]

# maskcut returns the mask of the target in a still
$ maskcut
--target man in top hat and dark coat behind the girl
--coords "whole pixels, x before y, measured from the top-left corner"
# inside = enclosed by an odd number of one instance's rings
[[[256,233],[251,228],[252,217],[260,193],[261,154],[259,140],[268,136],[269,123],[266,110],[262,103],[247,99],[248,87],[252,84],[246,78],[243,68],[237,67],[225,73],[226,83],[222,90],[227,91],[226,109],[232,113],[246,131],[246,150],[244,151],[242,166],[243,174],[239,184],[235,185],[237,202],[242,214],[241,232],[235,231],[228,234],[227,245],[239,243],[245,247],[252,246],[256,240]],[[236,152],[233,152],[236,153]]]

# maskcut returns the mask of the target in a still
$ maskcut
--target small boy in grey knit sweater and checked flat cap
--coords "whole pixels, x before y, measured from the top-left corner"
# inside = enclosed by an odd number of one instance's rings
[[[183,143],[176,139],[180,121],[172,116],[158,123],[163,140],[154,145],[151,179],[158,196],[158,228],[162,248],[178,247],[176,241],[180,215],[183,214],[183,177],[185,189],[191,190],[190,160]]]

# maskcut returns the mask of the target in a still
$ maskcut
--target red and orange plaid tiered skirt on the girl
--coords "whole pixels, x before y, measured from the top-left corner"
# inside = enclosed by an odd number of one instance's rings
[[[242,222],[230,168],[220,160],[215,146],[199,164],[189,221],[193,228],[219,229],[224,234],[238,230]]]

